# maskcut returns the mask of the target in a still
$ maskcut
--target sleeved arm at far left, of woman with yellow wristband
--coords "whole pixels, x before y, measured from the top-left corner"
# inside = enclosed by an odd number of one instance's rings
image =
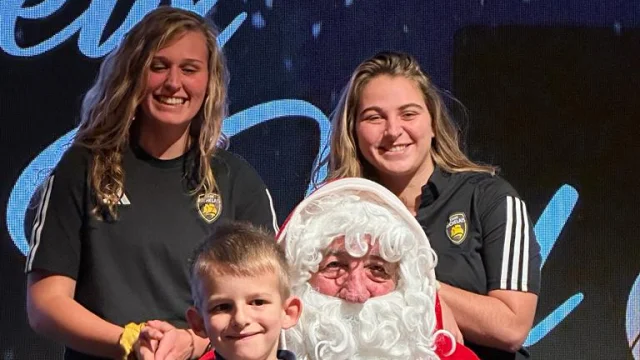
[[[42,183],[29,207],[25,233],[27,315],[38,333],[80,352],[116,357],[123,329],[104,321],[75,300],[80,273],[82,229],[87,213],[90,153],[71,147]]]

